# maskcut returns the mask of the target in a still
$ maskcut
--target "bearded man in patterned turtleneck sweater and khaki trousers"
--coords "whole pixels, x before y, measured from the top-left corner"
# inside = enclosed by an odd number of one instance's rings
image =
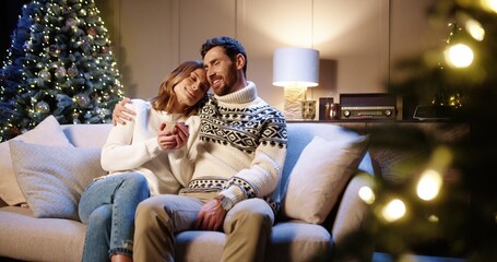
[[[222,261],[263,261],[279,204],[275,190],[286,155],[286,121],[247,81],[247,55],[236,39],[201,48],[214,92],[199,115],[196,167],[179,195],[157,195],[137,211],[134,261],[174,261],[175,235],[222,229]],[[228,214],[228,215],[227,215]]]

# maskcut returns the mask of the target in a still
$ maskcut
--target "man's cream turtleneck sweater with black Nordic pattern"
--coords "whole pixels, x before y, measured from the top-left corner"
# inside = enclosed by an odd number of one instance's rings
[[[286,121],[248,85],[211,96],[199,114],[196,168],[186,191],[222,190],[235,204],[264,198],[276,188],[286,156]],[[277,204],[271,203],[277,210]]]

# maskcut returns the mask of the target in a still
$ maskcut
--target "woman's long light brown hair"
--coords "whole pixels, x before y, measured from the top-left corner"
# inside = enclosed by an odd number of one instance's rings
[[[174,92],[175,86],[184,79],[189,78],[191,72],[197,69],[203,69],[203,63],[200,61],[186,61],[173,70],[173,72],[170,72],[169,75],[167,75],[166,79],[162,82],[158,90],[158,95],[151,99],[152,107],[155,110],[171,112],[173,108],[176,106],[176,94]],[[209,85],[209,83],[205,82],[205,85]],[[191,116],[193,114],[197,114],[199,108],[205,102],[205,97],[200,99],[196,105],[187,107],[185,115]]]

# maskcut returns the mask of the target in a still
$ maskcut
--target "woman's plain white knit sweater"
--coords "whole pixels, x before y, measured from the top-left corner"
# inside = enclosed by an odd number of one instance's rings
[[[157,111],[141,99],[133,99],[127,107],[137,115],[126,124],[113,127],[102,150],[102,166],[110,175],[135,171],[146,177],[152,195],[178,193],[190,181],[193,165],[185,157],[198,139],[200,119],[182,114]],[[190,138],[179,150],[163,151],[158,146],[157,131],[162,122],[185,121]]]

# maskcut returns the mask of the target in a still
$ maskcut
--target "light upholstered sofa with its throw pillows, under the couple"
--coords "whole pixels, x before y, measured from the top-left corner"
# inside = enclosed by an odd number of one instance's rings
[[[92,176],[103,171],[99,150],[110,128],[58,124],[49,117],[0,143],[0,260],[81,261],[85,226],[69,214]],[[374,187],[376,170],[368,136],[322,122],[288,122],[287,131],[283,176],[274,192],[282,212],[265,257],[318,261],[365,224],[369,205],[358,190]],[[67,198],[58,200],[62,194]],[[226,237],[190,230],[176,239],[177,261],[220,261]]]

